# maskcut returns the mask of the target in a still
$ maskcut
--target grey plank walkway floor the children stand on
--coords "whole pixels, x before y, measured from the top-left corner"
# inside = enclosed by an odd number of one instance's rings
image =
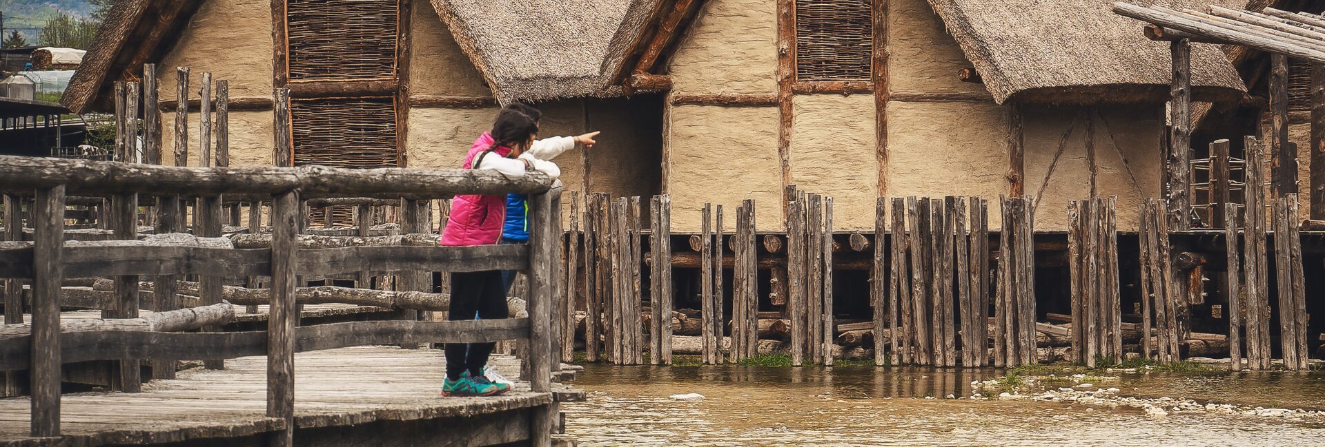
[[[443,357],[441,350],[394,346],[298,353],[295,427],[470,417],[553,402],[527,382],[501,397],[443,398]],[[493,357],[493,365],[518,376],[513,357]],[[266,417],[266,357],[240,357],[224,370],[193,369],[143,384],[142,393],[65,394],[62,438],[29,438],[29,399],[0,399],[0,446],[166,443],[282,430],[281,418]]]

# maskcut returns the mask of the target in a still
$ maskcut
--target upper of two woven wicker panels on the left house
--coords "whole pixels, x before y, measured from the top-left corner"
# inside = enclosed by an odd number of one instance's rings
[[[394,78],[398,12],[398,0],[289,0],[290,79]]]

